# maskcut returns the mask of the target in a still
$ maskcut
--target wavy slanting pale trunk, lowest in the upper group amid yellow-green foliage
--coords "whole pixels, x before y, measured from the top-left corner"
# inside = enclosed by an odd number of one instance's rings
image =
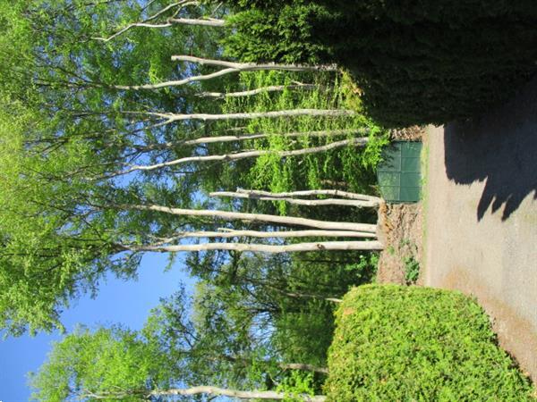
[[[162,163],[145,164],[145,165],[135,164],[129,167],[128,169],[125,169],[124,171],[112,172],[108,174],[106,177],[111,178],[111,177],[121,176],[124,174],[137,172],[137,171],[143,171],[143,172],[154,171],[157,169],[163,169],[166,167],[176,166],[179,164],[191,163],[191,162],[214,162],[214,161],[227,161],[228,162],[228,161],[236,161],[239,159],[258,157],[261,155],[277,155],[279,157],[309,155],[309,154],[316,154],[316,153],[325,152],[331,149],[337,149],[337,148],[346,147],[346,146],[362,147],[368,142],[368,140],[369,138],[344,139],[342,141],[333,142],[331,144],[321,146],[321,147],[294,149],[293,151],[259,150],[259,151],[239,152],[236,154],[226,154],[226,155],[187,156],[184,158],[175,159],[173,161],[162,162]]]

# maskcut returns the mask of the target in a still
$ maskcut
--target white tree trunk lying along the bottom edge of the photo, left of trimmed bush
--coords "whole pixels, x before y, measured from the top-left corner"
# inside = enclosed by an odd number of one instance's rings
[[[285,392],[277,391],[243,391],[236,389],[223,389],[210,386],[199,386],[192,387],[188,389],[164,389],[164,390],[154,390],[149,395],[155,397],[166,397],[166,396],[191,396],[191,395],[200,395],[200,394],[209,394],[214,396],[222,396],[229,398],[239,398],[239,399],[284,399],[286,398]],[[326,399],[323,395],[299,395],[298,398],[301,398],[304,402],[324,402]]]

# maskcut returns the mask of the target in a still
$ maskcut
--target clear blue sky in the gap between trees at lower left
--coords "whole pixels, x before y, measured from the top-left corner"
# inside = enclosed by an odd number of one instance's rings
[[[132,329],[140,329],[149,310],[158,305],[159,298],[174,293],[180,282],[192,289],[178,258],[173,269],[164,272],[166,255],[145,255],[139,270],[138,281],[118,281],[109,277],[101,283],[98,297],[81,298],[63,314],[67,331],[77,323],[95,327],[98,324],[121,322]],[[2,291],[0,289],[0,291]],[[58,333],[39,334],[32,338],[0,339],[0,401],[25,402],[30,398],[26,373],[37,371],[45,361],[50,342],[61,339]]]

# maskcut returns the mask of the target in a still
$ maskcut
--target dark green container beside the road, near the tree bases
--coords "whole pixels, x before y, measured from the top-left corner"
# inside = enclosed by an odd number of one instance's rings
[[[415,203],[422,190],[422,143],[396,141],[382,151],[377,169],[380,193],[391,203]]]

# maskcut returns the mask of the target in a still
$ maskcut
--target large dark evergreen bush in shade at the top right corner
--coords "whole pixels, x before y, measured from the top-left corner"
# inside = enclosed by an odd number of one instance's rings
[[[227,53],[247,62],[338,63],[392,127],[482,113],[537,71],[533,0],[227,0]]]

